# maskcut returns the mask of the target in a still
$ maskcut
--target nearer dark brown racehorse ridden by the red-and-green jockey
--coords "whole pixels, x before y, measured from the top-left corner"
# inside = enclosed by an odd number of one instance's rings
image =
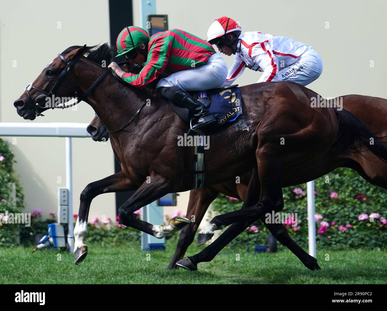
[[[87,51],[86,46],[72,47],[63,52],[64,57],[55,58],[33,82],[34,87],[29,87],[29,96],[24,92],[15,101],[17,113],[34,120],[49,109],[38,108],[35,102],[43,92],[49,94],[50,89],[55,89],[57,97],[84,94],[104,71],[83,56]],[[387,149],[363,123],[344,109],[312,108],[311,100],[318,95],[301,85],[267,82],[241,87],[241,92],[243,114],[239,120],[206,133],[211,139],[211,148],[205,154],[206,186],[227,182],[257,167],[245,199],[248,205],[217,218],[217,227],[236,222],[236,227],[231,226],[224,233],[228,236],[235,234],[241,223],[251,223],[272,210],[281,211],[282,187],[305,183],[336,168],[335,163],[327,163],[321,157],[327,150],[339,160],[348,150],[363,146],[373,155],[387,159]],[[92,198],[106,192],[135,190],[120,207],[120,219],[126,226],[157,237],[160,226],[136,219],[133,212],[167,193],[193,187],[193,148],[177,144],[188,126],[158,93],[122,87],[107,75],[84,100],[104,126],[114,131],[110,134],[111,145],[122,172],[91,183],[82,191],[74,230],[75,263],[87,254],[83,241]],[[146,102],[151,104],[136,113]],[[369,144],[370,139],[373,144]],[[255,191],[257,188],[259,191]],[[219,244],[221,240],[217,239],[209,247]],[[181,265],[194,270],[198,262],[205,260],[201,253]]]

